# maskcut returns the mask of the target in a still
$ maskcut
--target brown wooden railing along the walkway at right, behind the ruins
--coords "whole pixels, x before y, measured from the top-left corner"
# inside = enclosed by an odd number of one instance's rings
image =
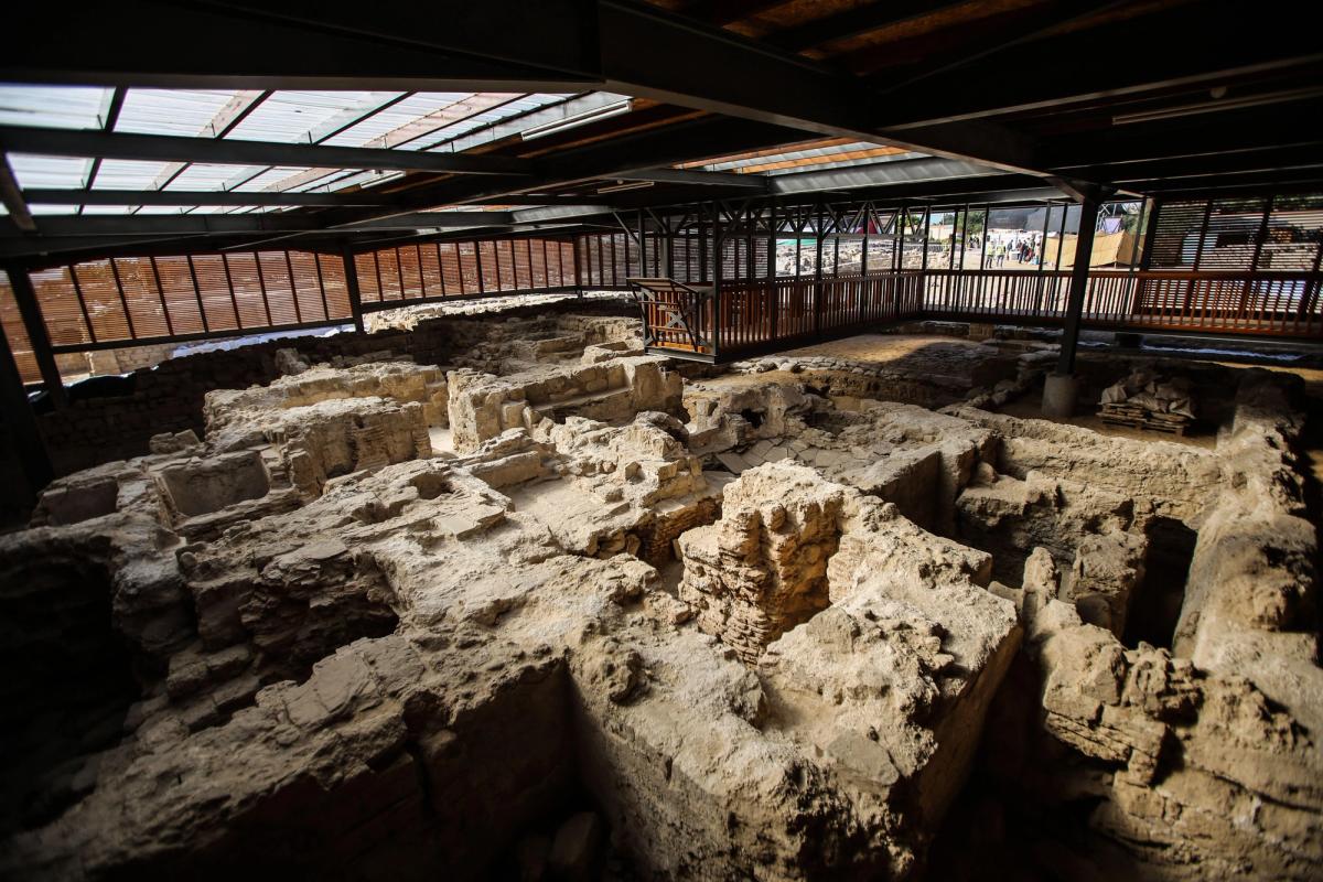
[[[906,319],[1060,325],[1069,292],[1068,271],[914,270],[729,282],[721,286],[718,321],[710,299],[691,309],[705,341],[697,353],[726,361]],[[1323,274],[1098,270],[1089,274],[1082,323],[1323,339]],[[659,327],[654,336],[658,349],[693,352],[673,331]]]

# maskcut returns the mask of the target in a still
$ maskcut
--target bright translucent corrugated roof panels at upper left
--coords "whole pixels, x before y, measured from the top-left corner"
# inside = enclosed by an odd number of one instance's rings
[[[0,86],[0,124],[103,128],[108,87]],[[114,131],[250,141],[385,147],[407,151],[467,149],[456,139],[483,132],[564,102],[565,94],[388,93],[128,89]],[[509,123],[517,127],[517,122]],[[533,123],[529,123],[531,126]],[[471,141],[467,138],[466,141]],[[335,192],[372,186],[400,172],[307,169],[209,163],[103,160],[11,153],[22,188],[172,192]],[[95,180],[90,180],[91,177]],[[37,206],[42,214],[148,213],[139,206]],[[157,206],[149,213],[246,213],[253,206]]]

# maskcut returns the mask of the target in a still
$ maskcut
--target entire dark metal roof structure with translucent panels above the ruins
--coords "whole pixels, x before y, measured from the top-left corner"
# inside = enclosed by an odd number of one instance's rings
[[[1316,185],[1323,52],[1271,5],[37,4],[0,60],[0,258]]]

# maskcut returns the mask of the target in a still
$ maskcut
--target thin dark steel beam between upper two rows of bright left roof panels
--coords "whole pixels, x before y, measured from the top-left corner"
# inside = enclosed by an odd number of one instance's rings
[[[529,175],[534,165],[507,156],[429,153],[373,147],[277,144],[176,135],[136,135],[71,128],[0,126],[0,151],[40,156],[79,156],[222,165],[392,169],[454,175]]]

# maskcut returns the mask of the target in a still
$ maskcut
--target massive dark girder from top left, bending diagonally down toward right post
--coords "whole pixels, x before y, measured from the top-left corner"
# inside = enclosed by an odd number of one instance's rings
[[[126,3],[70,20],[22,8],[15,33],[60,33],[7,53],[0,78],[175,87],[585,91],[605,89],[741,119],[1033,171],[1029,139],[943,127],[897,136],[872,119],[857,78],[729,30],[620,0],[378,0],[353,7],[235,0],[206,7]],[[179,33],[201,34],[179,40]],[[22,42],[22,41],[15,41]],[[250,75],[234,75],[234,46]],[[291,50],[296,48],[296,50]],[[676,63],[683,60],[683,63]],[[261,163],[258,163],[261,164]],[[278,164],[286,164],[278,163]],[[302,164],[302,163],[300,163]],[[333,163],[311,163],[335,167]]]

